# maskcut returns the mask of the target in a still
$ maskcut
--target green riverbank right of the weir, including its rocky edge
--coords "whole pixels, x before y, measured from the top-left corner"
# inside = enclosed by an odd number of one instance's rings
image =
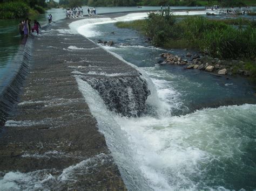
[[[183,16],[177,21],[180,18],[174,16],[175,13],[165,10],[164,15],[152,13],[149,19],[119,22],[116,25],[138,30],[145,37],[150,37],[146,41],[154,46],[197,49],[198,54],[201,54],[199,56],[187,52],[189,59],[182,59],[180,55],[163,54],[166,60],[161,65],[188,64],[187,68],[208,67],[208,72],[224,75],[256,76],[255,38],[251,35],[255,31],[253,20],[238,18],[223,21]]]

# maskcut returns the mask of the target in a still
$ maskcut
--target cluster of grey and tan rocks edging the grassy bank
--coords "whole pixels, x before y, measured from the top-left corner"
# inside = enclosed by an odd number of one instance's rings
[[[160,65],[187,65],[187,69],[199,69],[206,72],[217,73],[219,75],[240,74],[245,76],[252,75],[248,70],[243,69],[245,62],[238,60],[220,60],[211,56],[192,55],[187,53],[185,58],[171,53],[163,53],[161,57],[164,61],[158,62]]]

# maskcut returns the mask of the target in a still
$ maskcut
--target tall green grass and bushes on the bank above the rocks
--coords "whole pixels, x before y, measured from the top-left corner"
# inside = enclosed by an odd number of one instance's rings
[[[177,17],[167,11],[164,14],[151,13],[145,20],[118,22],[116,25],[140,31],[150,37],[155,46],[196,48],[213,58],[247,60],[247,69],[256,76],[255,21],[188,16],[178,22]]]

